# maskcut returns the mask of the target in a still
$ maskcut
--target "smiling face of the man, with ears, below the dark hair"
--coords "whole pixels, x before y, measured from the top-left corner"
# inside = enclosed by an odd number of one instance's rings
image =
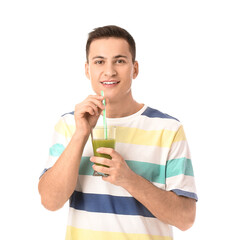
[[[110,101],[131,94],[132,79],[137,77],[138,63],[132,62],[127,41],[121,38],[94,40],[90,45],[86,76],[96,94],[101,90]]]

